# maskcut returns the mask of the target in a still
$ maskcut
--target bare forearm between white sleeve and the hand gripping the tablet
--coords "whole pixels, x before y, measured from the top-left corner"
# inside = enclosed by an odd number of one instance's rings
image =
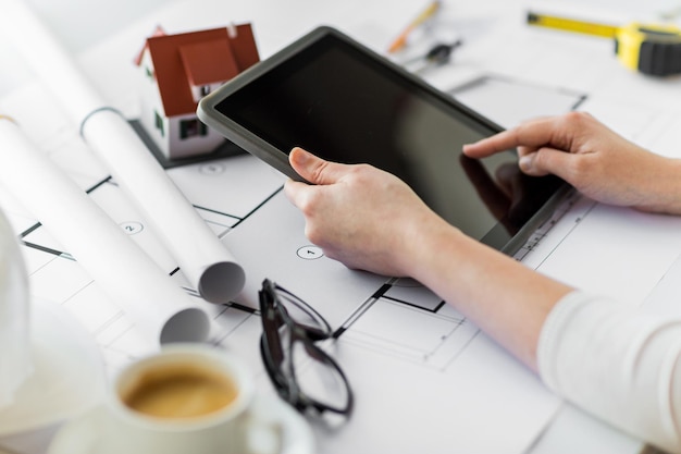
[[[429,221],[412,242],[410,275],[454,305],[531,369],[553,306],[571,289],[451,228]]]

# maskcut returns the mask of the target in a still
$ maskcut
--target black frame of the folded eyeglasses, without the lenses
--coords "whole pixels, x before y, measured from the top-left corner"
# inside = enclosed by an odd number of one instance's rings
[[[262,318],[260,354],[270,380],[280,397],[288,402],[300,413],[312,410],[317,415],[322,415],[325,412],[331,412],[346,417],[349,416],[354,407],[354,395],[350,383],[340,366],[325,351],[315,344],[317,342],[333,336],[331,326],[310,305],[269,279],[262,282],[262,289],[258,292],[258,296]],[[294,320],[285,305],[281,302],[281,297],[285,297],[287,303],[307,312],[308,316],[315,319],[323,329],[310,327]],[[280,328],[284,324],[286,324],[290,331],[288,345],[283,345],[280,335]],[[288,370],[284,370],[284,348],[288,348],[288,352],[293,352],[295,342],[302,343],[306,352],[313,360],[318,360],[335,369],[346,389],[347,401],[345,406],[333,406],[306,394],[298,384],[293,361],[288,361],[288,367],[286,367]]]

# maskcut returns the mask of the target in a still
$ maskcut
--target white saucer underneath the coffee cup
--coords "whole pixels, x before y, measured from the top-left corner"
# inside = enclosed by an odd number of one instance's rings
[[[268,415],[268,419],[284,420],[281,454],[313,454],[314,437],[308,421],[276,396],[257,396],[255,410]],[[48,454],[98,454],[98,446],[106,443],[101,429],[109,413],[102,405],[66,422],[57,432]]]

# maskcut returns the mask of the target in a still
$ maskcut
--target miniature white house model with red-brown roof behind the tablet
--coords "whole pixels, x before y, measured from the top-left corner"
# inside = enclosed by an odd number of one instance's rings
[[[145,132],[169,160],[224,143],[196,116],[201,97],[260,60],[250,24],[166,35],[160,27],[135,59]]]

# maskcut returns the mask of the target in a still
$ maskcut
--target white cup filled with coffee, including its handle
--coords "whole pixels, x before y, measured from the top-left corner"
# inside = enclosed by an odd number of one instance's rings
[[[182,382],[186,377],[198,377],[198,386],[211,388],[208,393],[215,392],[215,388],[220,398],[231,392],[223,390],[225,383],[231,383],[234,395],[218,409],[197,405],[198,415],[188,416],[172,405],[170,409],[154,406],[158,396],[153,393],[165,386],[159,384],[163,377],[176,383],[166,386],[166,394],[161,393],[162,402],[172,400],[168,396],[184,396],[187,386],[193,390],[194,384]],[[201,382],[203,378],[216,383],[207,385]],[[106,442],[98,454],[281,453],[285,451],[282,442],[287,421],[259,412],[253,405],[255,392],[253,377],[238,358],[208,345],[171,344],[128,366],[114,381],[108,397],[109,417],[102,428]],[[132,407],[135,405],[137,409]]]

